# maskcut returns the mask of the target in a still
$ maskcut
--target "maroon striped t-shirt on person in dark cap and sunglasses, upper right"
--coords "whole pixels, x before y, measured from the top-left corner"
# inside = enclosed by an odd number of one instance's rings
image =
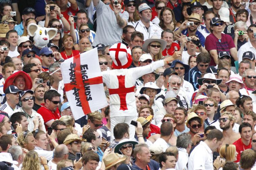
[[[228,34],[221,34],[221,40],[219,41],[219,39],[211,33],[206,37],[204,46],[207,51],[217,50],[217,54],[219,54],[220,51],[228,51],[230,53],[230,49],[235,47],[235,44],[232,37]],[[212,56],[210,66],[216,66]]]

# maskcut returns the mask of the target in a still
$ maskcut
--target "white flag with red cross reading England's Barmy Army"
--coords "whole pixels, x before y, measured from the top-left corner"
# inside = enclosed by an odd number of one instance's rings
[[[75,120],[108,105],[96,48],[66,59],[60,69]]]

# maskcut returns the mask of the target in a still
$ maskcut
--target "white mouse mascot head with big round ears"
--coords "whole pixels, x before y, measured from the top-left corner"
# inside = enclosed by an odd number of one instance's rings
[[[57,29],[40,27],[31,23],[28,25],[28,35],[34,37],[33,40],[36,47],[43,48],[57,35]]]

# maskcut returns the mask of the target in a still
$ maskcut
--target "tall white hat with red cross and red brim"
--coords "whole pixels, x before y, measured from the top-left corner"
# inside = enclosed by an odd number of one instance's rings
[[[131,50],[122,43],[112,45],[109,49],[109,55],[113,59],[112,67],[114,69],[126,69],[133,61]]]

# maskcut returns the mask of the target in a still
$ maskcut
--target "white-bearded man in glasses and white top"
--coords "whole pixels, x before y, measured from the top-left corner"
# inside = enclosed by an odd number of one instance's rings
[[[168,98],[170,94],[175,94],[176,97],[179,98],[178,106],[184,107],[185,109],[190,108],[189,100],[186,97],[186,93],[180,89],[181,87],[181,79],[177,75],[172,75],[168,81],[168,89],[166,92],[165,98]]]

